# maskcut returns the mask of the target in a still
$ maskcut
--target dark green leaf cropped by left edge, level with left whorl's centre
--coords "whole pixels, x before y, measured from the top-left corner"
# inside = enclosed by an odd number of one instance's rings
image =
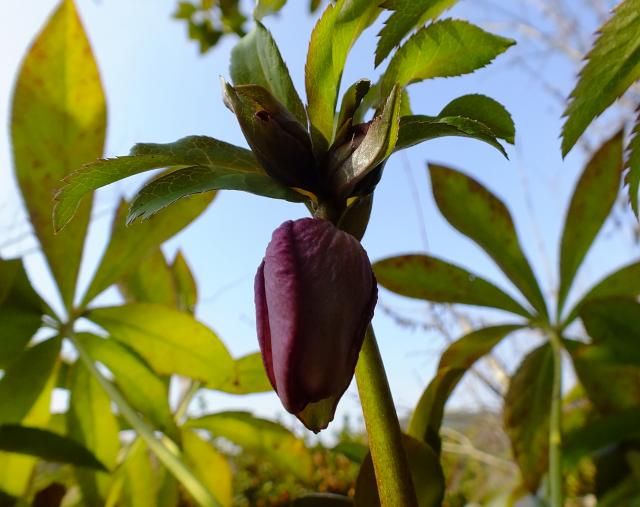
[[[40,328],[43,303],[19,259],[0,259],[0,369],[6,369]]]

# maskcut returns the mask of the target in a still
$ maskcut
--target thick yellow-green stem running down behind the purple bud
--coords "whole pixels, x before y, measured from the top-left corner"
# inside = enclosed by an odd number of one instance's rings
[[[373,327],[356,366],[356,382],[382,507],[417,507],[415,489]]]

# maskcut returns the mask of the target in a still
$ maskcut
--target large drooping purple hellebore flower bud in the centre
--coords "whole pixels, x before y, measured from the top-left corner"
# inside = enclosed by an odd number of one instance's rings
[[[258,341],[282,404],[310,430],[333,419],[377,296],[366,252],[331,222],[303,218],[274,231],[255,279]]]

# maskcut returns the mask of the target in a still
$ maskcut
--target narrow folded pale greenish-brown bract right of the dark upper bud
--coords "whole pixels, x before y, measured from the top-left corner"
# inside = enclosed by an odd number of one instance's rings
[[[360,145],[335,169],[332,188],[339,195],[351,195],[355,186],[393,153],[398,139],[401,99],[401,89],[395,87],[382,114],[373,119]]]

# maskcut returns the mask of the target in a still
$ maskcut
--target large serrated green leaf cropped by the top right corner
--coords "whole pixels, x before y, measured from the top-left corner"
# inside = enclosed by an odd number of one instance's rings
[[[624,0],[600,28],[564,115],[562,154],[591,122],[640,79],[640,0]]]

